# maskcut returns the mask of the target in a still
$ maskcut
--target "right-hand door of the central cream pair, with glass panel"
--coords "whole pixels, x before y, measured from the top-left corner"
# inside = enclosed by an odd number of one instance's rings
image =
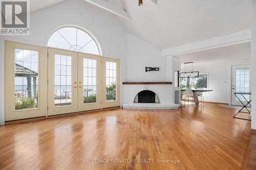
[[[101,109],[101,57],[78,53],[78,111]]]

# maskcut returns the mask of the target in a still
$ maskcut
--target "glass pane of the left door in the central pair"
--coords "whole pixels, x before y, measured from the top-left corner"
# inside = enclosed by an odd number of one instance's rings
[[[72,105],[72,58],[55,54],[55,106]]]

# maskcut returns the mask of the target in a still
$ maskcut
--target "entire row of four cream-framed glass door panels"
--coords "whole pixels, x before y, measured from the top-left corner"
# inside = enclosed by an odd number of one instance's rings
[[[5,44],[5,120],[120,106],[118,59]]]

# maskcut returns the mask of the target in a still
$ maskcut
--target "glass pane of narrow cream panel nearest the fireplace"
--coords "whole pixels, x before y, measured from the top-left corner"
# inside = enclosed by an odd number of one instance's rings
[[[116,63],[106,61],[106,102],[116,101]]]

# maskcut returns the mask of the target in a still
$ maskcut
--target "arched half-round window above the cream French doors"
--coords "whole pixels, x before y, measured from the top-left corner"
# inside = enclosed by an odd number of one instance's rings
[[[62,27],[54,31],[49,38],[48,46],[101,55],[95,40],[87,32],[75,27]]]

